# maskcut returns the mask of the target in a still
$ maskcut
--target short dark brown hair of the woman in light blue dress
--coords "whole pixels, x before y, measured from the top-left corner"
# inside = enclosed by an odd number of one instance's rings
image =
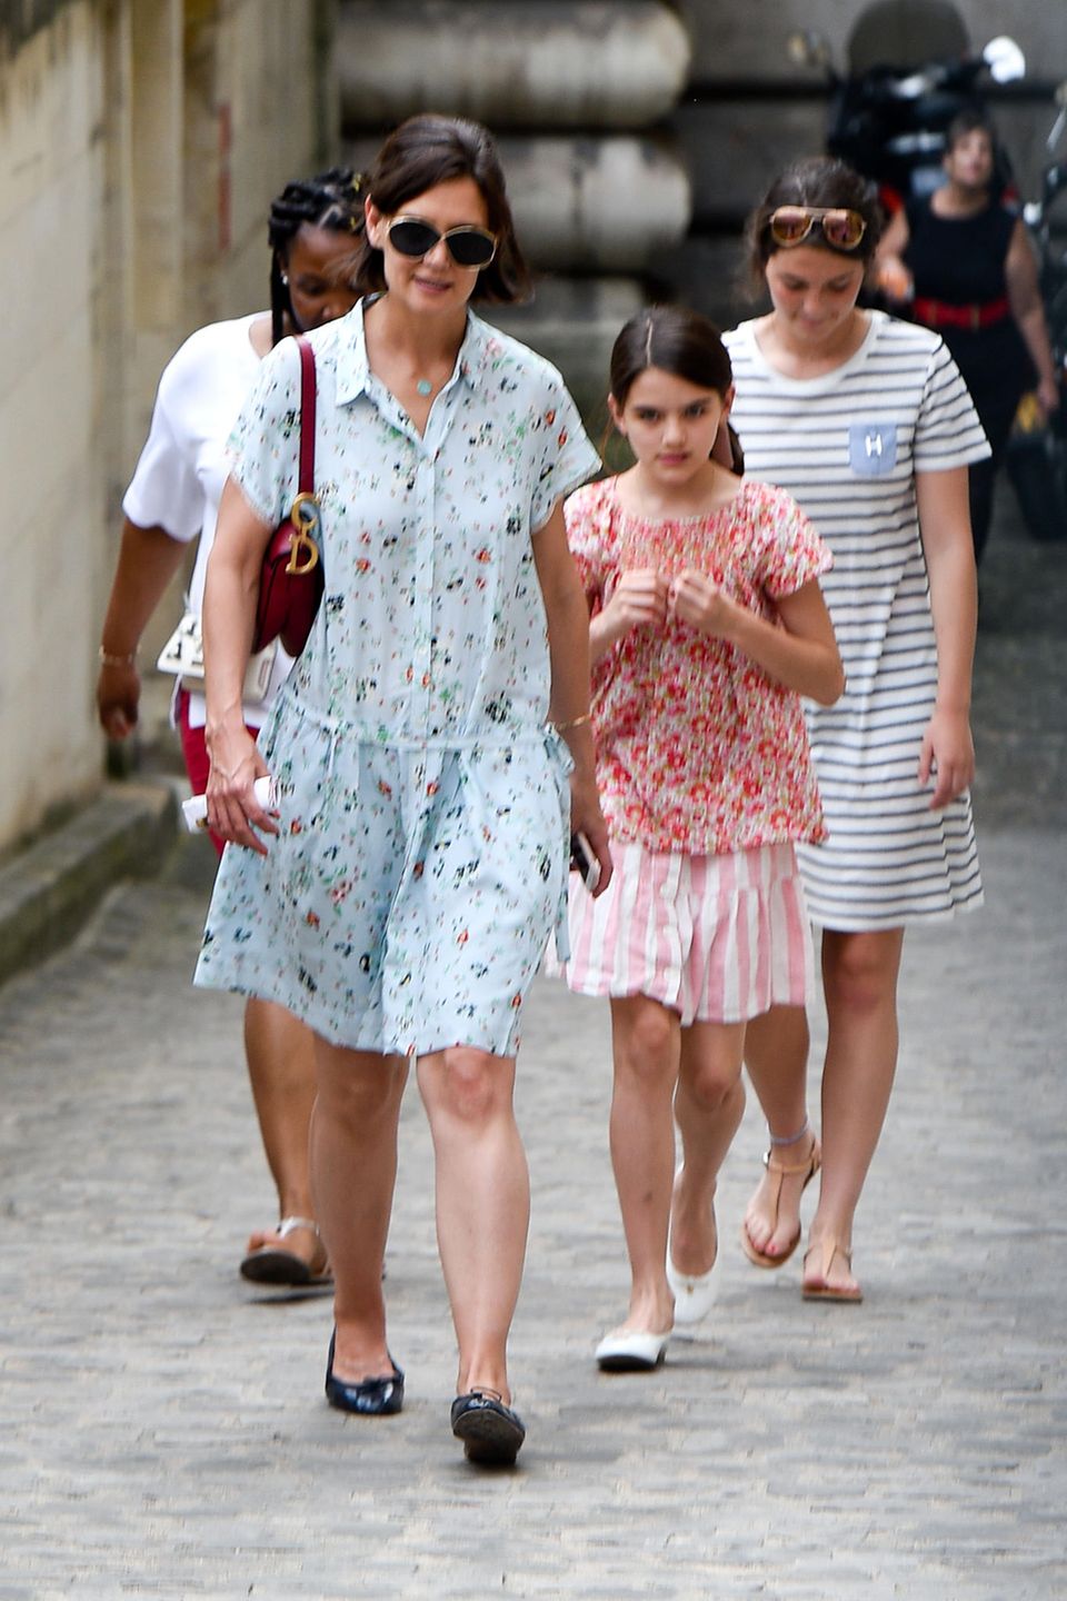
[[[530,272],[515,239],[504,170],[482,123],[466,117],[410,117],[386,139],[366,178],[366,197],[395,216],[410,200],[454,178],[472,178],[482,191],[496,256],[478,274],[474,299],[514,304],[530,295]],[[382,253],[363,234],[349,274],[357,295],[386,288]]]

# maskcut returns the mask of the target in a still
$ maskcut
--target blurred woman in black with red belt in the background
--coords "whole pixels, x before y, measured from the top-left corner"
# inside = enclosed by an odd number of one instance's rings
[[[915,322],[936,328],[963,373],[992,456],[971,467],[971,528],[981,559],[1019,399],[1033,384],[1041,408],[1059,405],[1037,264],[1025,229],[993,194],[993,134],[979,112],[949,128],[947,183],[889,223],[878,248],[878,283],[912,303]]]

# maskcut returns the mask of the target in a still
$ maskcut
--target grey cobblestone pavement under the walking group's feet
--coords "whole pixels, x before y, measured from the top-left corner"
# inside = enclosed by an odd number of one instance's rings
[[[707,1338],[672,1345],[654,1375],[597,1374],[592,1346],[625,1298],[606,1017],[536,986],[512,1343],[530,1438],[514,1473],[466,1467],[448,1431],[414,1093],[387,1282],[405,1412],[331,1412],[328,1298],[238,1281],[272,1194],[240,1005],[189,986],[203,916],[189,857],[117,885],[75,946],[8,985],[0,1601],[1067,1593],[1065,559],[1019,538],[990,556],[987,908],[909,935],[901,1071],[856,1236],[862,1306],[803,1303],[798,1257],[779,1274],[742,1258],[750,1106],[720,1186]]]

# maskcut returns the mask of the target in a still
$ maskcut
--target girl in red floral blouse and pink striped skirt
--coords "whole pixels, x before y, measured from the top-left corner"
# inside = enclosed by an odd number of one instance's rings
[[[824,828],[800,696],[830,704],[843,688],[817,583],[830,557],[789,495],[712,459],[731,378],[704,317],[633,317],[613,351],[609,408],[637,464],[565,508],[592,615],[614,861],[600,898],[571,889],[566,973],[611,997],[632,1292],[597,1361],[616,1370],[656,1367],[672,1326],[710,1305],[712,1199],[744,1108],[745,1021],[801,1004],[811,978],[793,841]]]

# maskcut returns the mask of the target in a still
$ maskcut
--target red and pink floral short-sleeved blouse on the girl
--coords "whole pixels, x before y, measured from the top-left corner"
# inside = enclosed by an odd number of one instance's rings
[[[830,552],[784,490],[745,480],[701,517],[624,512],[617,480],[566,501],[566,528],[595,616],[621,575],[705,573],[760,616],[824,573]],[[825,837],[808,736],[793,690],[691,624],[632,629],[593,669],[597,778],[611,837],[653,852],[723,855]]]

